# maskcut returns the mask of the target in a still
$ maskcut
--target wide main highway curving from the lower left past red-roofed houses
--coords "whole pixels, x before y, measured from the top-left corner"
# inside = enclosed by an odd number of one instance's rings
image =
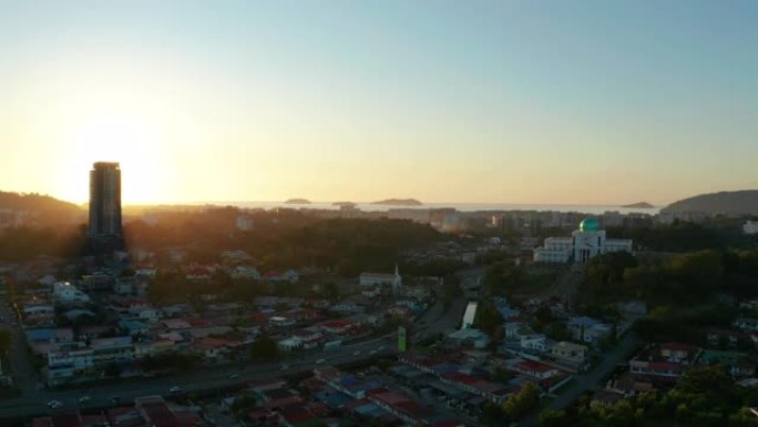
[[[464,279],[477,279],[477,271],[463,273]],[[432,337],[438,334],[448,333],[457,329],[463,317],[463,312],[468,301],[463,297],[454,301],[445,311],[438,302],[430,307],[411,328],[411,334],[419,335],[419,338]],[[6,304],[0,304],[0,311],[8,308]],[[4,306],[4,308],[2,307]],[[3,314],[3,316],[6,316]],[[8,316],[6,316],[8,318]],[[23,332],[14,329],[14,338],[20,339],[16,344],[17,349],[25,349]],[[278,363],[249,364],[244,368],[239,365],[234,367],[216,367],[196,370],[182,375],[140,378],[136,380],[119,380],[113,384],[93,385],[86,388],[51,390],[38,388],[37,374],[29,369],[31,366],[24,359],[22,352],[18,353],[19,385],[22,395],[17,398],[0,401],[0,419],[28,418],[35,415],[49,414],[47,403],[59,400],[65,408],[78,407],[82,409],[102,408],[107,405],[109,399],[114,396],[121,403],[132,401],[135,397],[147,395],[168,395],[168,389],[180,386],[185,393],[204,392],[214,389],[225,389],[227,387],[243,386],[246,383],[278,377],[283,375],[297,375],[311,372],[318,366],[334,366],[348,363],[367,360],[377,356],[393,356],[397,354],[397,332],[383,336],[362,340],[355,344],[346,344],[334,349],[325,349],[307,353],[298,356],[296,360],[283,359]],[[379,349],[381,348],[381,349]],[[16,354],[16,353],[14,353]],[[286,369],[281,369],[281,364],[287,364]],[[14,370],[16,373],[16,370]],[[234,378],[232,376],[234,375]],[[25,379],[24,379],[25,378]],[[84,405],[79,405],[78,399],[82,396],[90,396],[91,400]],[[1,423],[0,423],[1,424]]]

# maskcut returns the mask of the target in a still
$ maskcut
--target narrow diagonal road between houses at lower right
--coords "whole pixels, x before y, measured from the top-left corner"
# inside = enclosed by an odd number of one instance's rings
[[[613,370],[622,363],[626,363],[637,350],[642,342],[634,334],[627,333],[624,338],[610,352],[604,354],[600,365],[588,373],[576,375],[567,389],[564,389],[547,406],[550,409],[563,409],[573,404],[583,394],[604,386],[604,382],[611,376]],[[536,426],[537,415],[532,415],[522,421],[523,426]]]

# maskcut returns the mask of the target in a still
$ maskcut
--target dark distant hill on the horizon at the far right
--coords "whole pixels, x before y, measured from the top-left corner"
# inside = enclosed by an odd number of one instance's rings
[[[758,215],[758,190],[723,191],[674,202],[663,213],[703,212],[707,214]]]

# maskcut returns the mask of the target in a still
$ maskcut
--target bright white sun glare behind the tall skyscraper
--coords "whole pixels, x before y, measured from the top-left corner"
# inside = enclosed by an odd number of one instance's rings
[[[155,203],[163,196],[160,133],[135,115],[107,114],[84,121],[72,132],[65,193],[76,201],[89,197],[89,171],[99,161],[120,162],[124,204]]]

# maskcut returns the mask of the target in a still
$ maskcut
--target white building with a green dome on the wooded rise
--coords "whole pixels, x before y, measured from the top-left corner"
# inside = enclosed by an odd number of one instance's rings
[[[605,238],[605,230],[601,230],[595,218],[585,218],[580,230],[571,233],[571,237],[547,237],[544,246],[534,250],[534,261],[541,263],[584,264],[595,255],[608,252],[625,251],[632,253],[632,241]]]

